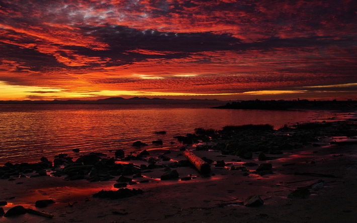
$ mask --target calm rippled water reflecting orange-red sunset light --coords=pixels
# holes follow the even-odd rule
[[[0,164],[37,162],[42,156],[133,151],[140,140],[147,144],[194,133],[197,127],[221,129],[227,125],[272,124],[280,128],[316,119],[315,111],[228,110],[167,105],[0,105]],[[166,131],[156,135],[155,131]]]

